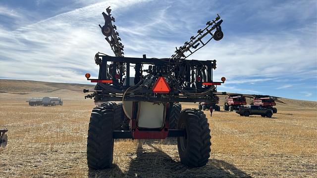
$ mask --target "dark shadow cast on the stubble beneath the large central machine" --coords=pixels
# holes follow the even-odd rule
[[[155,152],[147,152],[139,144],[137,156],[130,162],[127,172],[113,165],[112,169],[89,170],[89,178],[251,178],[234,165],[216,159],[210,159],[201,168],[188,168],[153,146],[151,141],[143,144],[151,146]]]

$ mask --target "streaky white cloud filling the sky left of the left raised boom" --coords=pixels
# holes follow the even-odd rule
[[[110,0],[14,31],[0,29],[0,77],[83,83],[85,72],[97,76],[94,54],[112,54],[98,27],[103,23],[101,12],[109,4],[120,12],[138,2]]]

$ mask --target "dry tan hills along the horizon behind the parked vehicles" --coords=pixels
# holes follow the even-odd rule
[[[27,80],[0,79],[0,96],[4,98],[27,99],[28,97],[58,96],[64,99],[83,99],[83,89],[94,89],[94,85],[67,84],[53,82],[38,82]],[[219,96],[219,105],[224,103],[225,96]],[[317,109],[316,101],[303,101],[288,98],[278,98],[277,108]],[[250,99],[247,98],[247,103]]]

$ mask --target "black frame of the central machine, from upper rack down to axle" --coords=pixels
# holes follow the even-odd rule
[[[84,92],[91,92],[85,98],[93,98],[95,103],[107,101],[134,101],[132,118],[130,119],[129,131],[113,131],[113,138],[133,138],[133,139],[161,139],[166,137],[186,136],[186,131],[169,129],[168,111],[174,102],[208,102],[217,103],[218,96],[215,95],[216,86],[223,82],[213,82],[212,70],[216,68],[216,60],[187,60],[170,58],[143,58],[135,57],[113,57],[108,55],[95,56],[96,64],[99,65],[98,79],[87,80],[97,83],[94,90],[84,89]],[[143,69],[143,65],[149,65],[148,69]],[[147,79],[147,76],[174,76],[173,80],[168,80],[170,87],[168,93],[155,93],[152,90],[152,81],[149,86],[139,87],[136,92],[126,94],[126,91],[133,87],[130,84],[130,67],[134,66],[134,84],[140,80]],[[150,67],[152,66],[152,67]],[[177,70],[177,71],[175,71]],[[148,75],[143,75],[148,73]],[[125,78],[123,78],[125,74]],[[116,77],[113,77],[116,76]],[[143,81],[143,83],[146,83]],[[181,85],[178,85],[181,83]],[[182,90],[192,93],[191,95],[182,93]],[[208,92],[206,92],[208,91]],[[202,93],[198,94],[196,93]],[[194,93],[194,94],[193,94]],[[139,129],[137,127],[138,101],[162,102],[166,104],[165,124],[161,129]]]

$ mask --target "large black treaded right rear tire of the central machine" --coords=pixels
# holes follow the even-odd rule
[[[184,109],[177,129],[186,130],[186,136],[177,137],[180,161],[189,167],[206,165],[211,152],[211,135],[206,115],[196,109]]]

